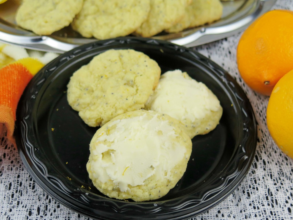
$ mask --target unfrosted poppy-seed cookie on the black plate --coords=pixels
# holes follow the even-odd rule
[[[108,50],[74,72],[67,85],[69,105],[89,126],[144,108],[159,82],[156,61],[135,50]]]

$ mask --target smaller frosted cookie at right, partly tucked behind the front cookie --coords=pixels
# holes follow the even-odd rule
[[[190,138],[213,130],[222,117],[220,101],[202,82],[181,70],[161,76],[145,109],[154,110],[181,121]]]

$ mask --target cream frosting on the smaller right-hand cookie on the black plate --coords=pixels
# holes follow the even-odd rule
[[[205,84],[181,70],[168,71],[161,76],[146,106],[180,121],[203,119],[207,111],[221,108],[219,100]]]

